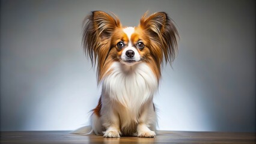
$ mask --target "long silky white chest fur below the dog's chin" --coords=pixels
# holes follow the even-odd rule
[[[132,66],[114,62],[109,71],[102,83],[103,94],[132,112],[138,111],[157,90],[156,76],[143,62]]]

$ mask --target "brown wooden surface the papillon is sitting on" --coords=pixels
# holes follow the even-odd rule
[[[1,132],[1,143],[256,143],[255,133],[159,131],[155,138],[81,136],[69,131]]]

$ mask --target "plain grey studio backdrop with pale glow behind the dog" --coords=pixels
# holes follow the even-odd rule
[[[163,68],[159,130],[255,132],[255,1],[1,1],[1,131],[74,130],[97,105],[82,49],[90,11],[137,26],[165,11],[180,41]]]

